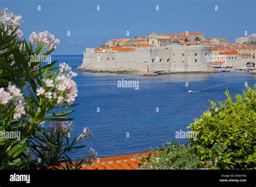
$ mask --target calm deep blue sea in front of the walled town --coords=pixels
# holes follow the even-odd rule
[[[71,135],[79,135],[85,126],[93,132],[93,138],[84,141],[87,147],[73,157],[85,155],[90,147],[96,149],[99,157],[106,157],[142,153],[168,141],[186,142],[176,139],[175,132],[187,131],[193,119],[210,107],[208,99],[225,100],[226,89],[234,98],[245,89],[245,82],[251,86],[255,82],[254,76],[246,72],[156,77],[83,73],[76,70],[83,56],[52,56],[52,60],[69,63],[78,73],[74,79],[80,105],[73,107],[75,112],[70,115],[75,119]],[[118,88],[117,81],[122,79],[139,80],[139,89]],[[187,93],[189,88],[196,92]]]

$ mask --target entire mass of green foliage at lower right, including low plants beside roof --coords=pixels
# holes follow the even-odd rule
[[[194,119],[197,138],[189,146],[172,142],[155,149],[140,169],[256,169],[256,93],[247,87],[232,102],[225,92],[224,103],[210,100],[211,107]],[[176,149],[175,149],[176,148]]]

